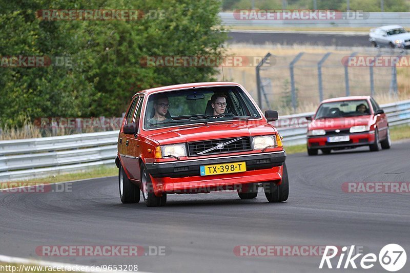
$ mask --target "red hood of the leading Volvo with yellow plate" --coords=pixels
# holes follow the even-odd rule
[[[161,145],[191,141],[202,141],[219,138],[246,137],[257,135],[275,134],[276,131],[270,124],[246,124],[244,122],[210,123],[188,128],[172,129],[151,134],[147,138]]]

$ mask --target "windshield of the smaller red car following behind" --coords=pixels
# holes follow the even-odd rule
[[[322,103],[315,119],[370,115],[367,100],[346,100]]]

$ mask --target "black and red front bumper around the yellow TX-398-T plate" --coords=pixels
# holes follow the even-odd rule
[[[152,177],[154,192],[199,193],[227,190],[227,186],[265,181],[280,184],[286,153],[267,152],[223,158],[193,159],[163,163],[146,163]],[[218,163],[245,161],[247,171],[243,173],[201,176],[199,166]]]

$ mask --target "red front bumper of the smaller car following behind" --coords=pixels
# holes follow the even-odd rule
[[[329,136],[308,136],[308,148],[322,149],[322,148],[352,148],[357,146],[371,145],[375,142],[375,131],[367,131],[363,133],[340,134],[338,136],[349,136],[349,141],[343,142],[328,142]],[[335,136],[335,135],[332,135]]]

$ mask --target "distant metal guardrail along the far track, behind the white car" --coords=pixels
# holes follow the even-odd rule
[[[341,18],[335,20],[240,20],[235,18],[233,12],[220,12],[219,16],[224,26],[264,26],[264,27],[309,27],[309,28],[334,28],[334,27],[368,27],[375,28],[385,25],[402,25],[410,27],[410,12],[360,12],[358,15],[342,12]]]

